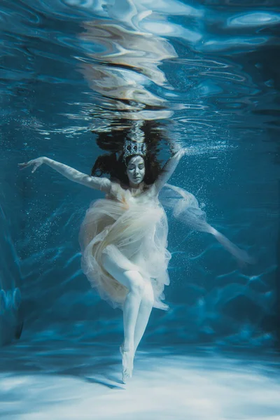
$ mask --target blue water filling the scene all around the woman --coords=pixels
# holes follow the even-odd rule
[[[280,419],[279,2],[15,0],[2,1],[0,22],[0,414],[109,418],[102,398],[116,397],[99,386],[120,386],[122,314],[90,289],[78,246],[85,211],[100,195],[49,167],[30,174],[17,165],[44,155],[90,173],[99,146],[142,120],[159,133],[163,161],[172,145],[188,148],[172,183],[195,194],[209,222],[256,262],[240,268],[213,238],[170,221],[171,309],[153,310],[130,388],[151,405],[142,412],[140,398],[114,416]],[[232,385],[218,367],[212,382],[200,382],[212,358]],[[239,363],[246,368],[235,370]],[[147,372],[157,393],[145,385]],[[86,395],[87,386],[96,393],[95,414],[82,391],[76,411],[55,402],[55,393],[72,398],[80,381]],[[168,383],[189,395],[184,405],[173,386],[181,401],[173,414],[155,398]]]

